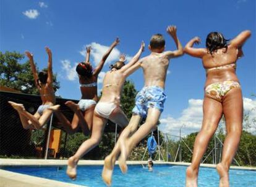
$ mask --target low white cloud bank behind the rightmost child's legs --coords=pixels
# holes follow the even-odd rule
[[[202,126],[203,119],[203,100],[189,100],[189,106],[182,111],[181,117],[174,118],[168,116],[160,119],[160,130],[164,133],[171,135],[179,135],[179,129],[182,124],[186,127],[182,127],[181,135],[188,135],[192,132],[198,132]],[[256,119],[256,100],[250,98],[244,98],[244,113],[249,113],[249,123],[255,123]],[[244,123],[245,124],[245,123]],[[247,129],[250,132],[255,132],[255,125],[251,129]]]

